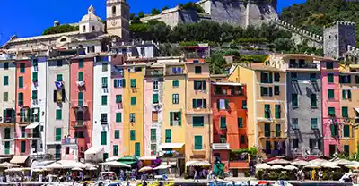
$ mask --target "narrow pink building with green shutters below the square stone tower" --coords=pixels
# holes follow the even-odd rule
[[[320,62],[322,85],[323,112],[323,152],[324,156],[332,156],[342,151],[340,143],[340,93],[339,66],[337,61],[324,60]]]

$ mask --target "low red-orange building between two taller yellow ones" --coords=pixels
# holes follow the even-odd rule
[[[247,140],[246,88],[241,83],[212,82],[213,156],[233,176],[249,168],[248,158],[231,153],[231,149],[249,148]]]

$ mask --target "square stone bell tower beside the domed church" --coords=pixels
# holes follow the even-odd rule
[[[129,5],[126,0],[107,0],[107,33],[129,39]]]

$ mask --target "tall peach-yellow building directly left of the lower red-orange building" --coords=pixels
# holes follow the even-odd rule
[[[186,160],[211,161],[210,74],[206,63],[186,63]]]

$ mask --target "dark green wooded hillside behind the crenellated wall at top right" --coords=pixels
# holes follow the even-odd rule
[[[280,19],[293,25],[322,35],[323,26],[334,21],[353,21],[356,43],[359,42],[359,1],[307,0],[283,9]]]

